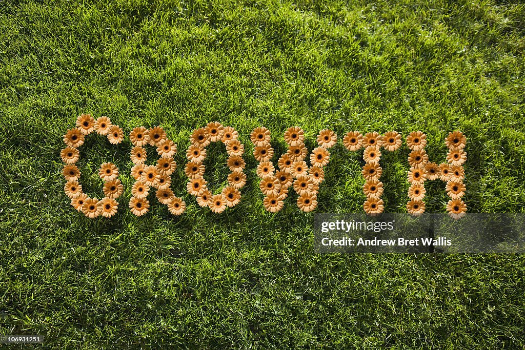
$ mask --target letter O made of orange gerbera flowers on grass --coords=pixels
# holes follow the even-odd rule
[[[184,169],[190,179],[186,185],[187,192],[197,197],[197,204],[209,207],[213,213],[222,213],[226,207],[235,207],[240,202],[240,188],[246,184],[243,159],[244,145],[238,140],[239,133],[232,126],[224,127],[218,122],[211,122],[206,128],[195,129],[190,136],[191,145],[188,147],[186,157],[188,163]],[[211,142],[222,141],[228,153],[227,165],[230,169],[228,185],[219,195],[214,195],[207,188],[204,179],[206,146]]]

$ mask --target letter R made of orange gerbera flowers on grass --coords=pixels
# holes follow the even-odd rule
[[[171,175],[177,168],[173,156],[177,153],[177,145],[167,138],[161,126],[146,129],[144,126],[134,128],[130,133],[131,149],[131,175],[135,183],[131,188],[129,208],[131,213],[142,216],[150,210],[148,195],[150,188],[156,189],[155,196],[160,203],[167,206],[173,215],[181,215],[186,210],[186,203],[182,198],[176,197],[171,189]],[[146,165],[148,153],[146,145],[155,147],[160,158],[155,165]]]

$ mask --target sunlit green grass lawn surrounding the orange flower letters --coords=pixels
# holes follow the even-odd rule
[[[489,349],[525,347],[525,258],[512,255],[319,255],[313,216],[291,194],[262,206],[249,132],[301,126],[468,138],[472,213],[523,213],[525,5],[493,1],[0,2],[0,334],[45,335],[46,347]],[[81,183],[120,167],[111,220],[64,195],[61,135],[80,113],[126,134],[162,125],[178,144],[172,188],[187,210],[127,208],[130,143],[95,135]],[[220,215],[185,193],[184,151],[209,121],[247,147],[243,199]],[[224,146],[206,178],[226,180]],[[318,213],[360,213],[361,154],[341,143]],[[385,211],[406,212],[408,149],[382,158]],[[277,157],[274,158],[277,160]],[[427,186],[445,213],[443,183]]]

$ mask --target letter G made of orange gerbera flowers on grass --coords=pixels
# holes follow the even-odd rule
[[[76,163],[80,159],[78,147],[84,143],[85,136],[93,131],[108,137],[112,144],[121,143],[124,133],[118,125],[113,125],[106,116],[101,116],[97,120],[91,114],[81,114],[77,118],[77,128],[69,129],[64,137],[67,145],[60,152],[62,161],[66,163],[62,168],[62,175],[67,183],[64,192],[71,198],[71,205],[81,211],[88,218],[94,219],[99,216],[110,218],[117,214],[119,203],[117,198],[123,192],[123,186],[119,177],[119,169],[112,163],[104,163],[100,166],[99,176],[104,181],[103,192],[105,197],[102,199],[90,198],[82,192],[80,185],[80,170]]]

